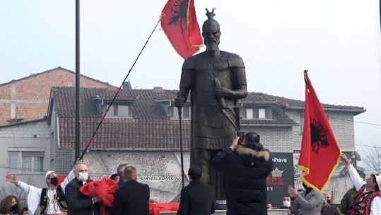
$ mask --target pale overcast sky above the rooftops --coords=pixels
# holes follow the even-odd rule
[[[0,0],[0,83],[58,66],[75,70],[74,3]],[[81,73],[119,87],[165,3],[81,1]],[[356,144],[381,147],[378,0],[194,4],[200,26],[205,8],[216,8],[220,47],[242,56],[250,92],[304,100],[307,69],[320,102],[367,109],[355,117]],[[157,29],[129,80],[137,89],[176,90],[182,62]]]

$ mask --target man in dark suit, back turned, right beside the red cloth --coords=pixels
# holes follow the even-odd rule
[[[124,168],[126,183],[115,192],[113,215],[149,215],[148,185],[136,180],[136,168]]]

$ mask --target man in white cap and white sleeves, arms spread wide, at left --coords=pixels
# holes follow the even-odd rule
[[[77,161],[77,164],[78,163],[81,162]],[[37,207],[40,207],[41,215],[65,215],[67,214],[67,203],[64,194],[65,187],[74,177],[74,171],[72,170],[61,185],[58,185],[59,181],[57,173],[54,171],[47,171],[45,173],[47,188],[36,188],[33,185],[28,185],[25,182],[17,180],[15,175],[6,175],[6,180],[14,183],[27,194],[27,203],[30,214],[35,214]]]

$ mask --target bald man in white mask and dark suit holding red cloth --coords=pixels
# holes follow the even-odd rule
[[[68,214],[100,215],[100,206],[96,204],[100,201],[100,198],[91,198],[79,191],[79,188],[91,182],[91,180],[88,180],[87,166],[85,164],[77,164],[76,168],[74,168],[74,175],[76,178],[71,180],[65,188]]]

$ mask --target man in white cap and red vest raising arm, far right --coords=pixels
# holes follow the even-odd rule
[[[351,209],[351,215],[380,215],[381,214],[381,176],[372,174],[365,181],[358,175],[356,168],[352,166],[346,155],[341,154],[341,160],[348,168],[353,185],[357,190],[355,202]]]

